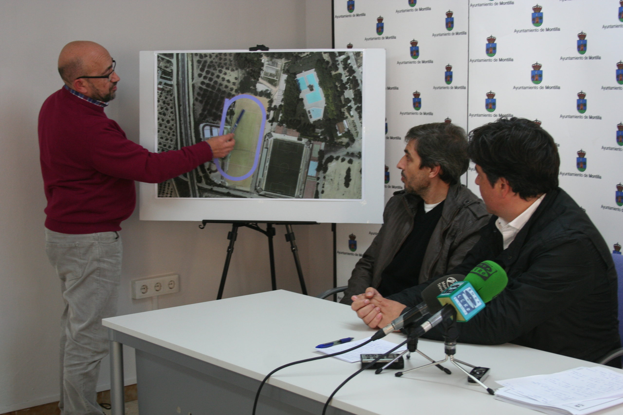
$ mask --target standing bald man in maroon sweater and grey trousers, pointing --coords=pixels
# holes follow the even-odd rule
[[[65,85],[39,113],[45,250],[65,302],[59,408],[62,415],[101,415],[95,386],[108,353],[101,320],[117,312],[118,231],[135,208],[134,181],[163,182],[224,157],[234,147],[234,134],[178,151],[149,152],[104,113],[120,80],[106,49],[70,42],[60,52],[59,73]]]

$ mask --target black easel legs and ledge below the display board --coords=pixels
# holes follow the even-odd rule
[[[269,261],[270,261],[270,282],[272,284],[273,291],[277,289],[277,279],[275,278],[275,252],[273,250],[272,238],[275,236],[275,228],[273,225],[285,225],[285,240],[290,242],[290,249],[292,249],[292,255],[294,257],[294,263],[297,266],[298,281],[301,284],[301,291],[303,295],[307,296],[307,287],[305,287],[305,279],[303,279],[303,269],[301,268],[301,261],[298,258],[298,247],[295,242],[294,231],[292,225],[318,225],[318,222],[287,222],[287,221],[244,221],[244,220],[202,220],[199,229],[204,229],[207,223],[231,223],[232,230],[227,233],[227,239],[229,240],[229,246],[227,246],[227,256],[225,258],[225,265],[223,266],[223,274],[221,276],[221,284],[219,285],[219,293],[216,296],[217,300],[223,297],[223,290],[225,289],[225,281],[227,279],[227,271],[229,271],[229,263],[234,253],[234,243],[238,237],[238,228],[242,226],[258,231],[266,235],[269,240]],[[265,223],[266,229],[260,228],[259,223]]]

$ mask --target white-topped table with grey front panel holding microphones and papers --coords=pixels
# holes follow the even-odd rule
[[[104,319],[110,329],[113,415],[123,414],[121,343],[136,348],[139,411],[143,414],[250,414],[261,381],[274,368],[318,355],[315,346],[336,338],[373,334],[350,307],[288,291],[183,305]],[[400,333],[385,338],[399,343]],[[420,340],[419,349],[434,359],[443,343]],[[531,348],[457,346],[459,360],[492,368],[485,383],[597,366]],[[405,370],[427,363],[417,353]],[[328,414],[536,414],[497,401],[452,365],[446,375],[435,367],[375,375],[364,371],[346,384]],[[262,390],[258,415],[320,414],[323,404],[359,363],[336,358],[301,363],[278,371]],[[622,371],[623,373],[623,371]],[[602,414],[621,414],[616,406]]]

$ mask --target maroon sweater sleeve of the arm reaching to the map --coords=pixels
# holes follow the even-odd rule
[[[181,150],[155,153],[127,139],[112,119],[103,119],[102,123],[93,128],[90,136],[90,157],[93,167],[103,174],[161,183],[212,160],[212,149],[206,141]]]

